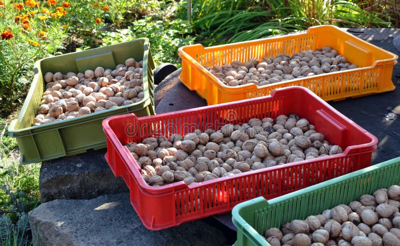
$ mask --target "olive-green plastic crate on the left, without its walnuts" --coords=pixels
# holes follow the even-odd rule
[[[144,98],[130,105],[83,115],[74,119],[32,126],[41,96],[45,90],[46,72],[84,72],[98,66],[115,68],[127,58],[143,60]],[[55,159],[83,153],[88,149],[106,147],[101,122],[104,118],[134,112],[137,116],[154,114],[153,78],[155,65],[151,57],[148,38],[43,58],[34,64],[34,77],[25,102],[16,120],[8,128],[21,152],[22,164]]]

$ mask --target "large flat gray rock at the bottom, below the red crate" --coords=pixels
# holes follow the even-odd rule
[[[226,242],[222,231],[202,220],[147,230],[130,205],[128,193],[43,203],[31,212],[29,224],[33,244],[40,246],[218,246]]]

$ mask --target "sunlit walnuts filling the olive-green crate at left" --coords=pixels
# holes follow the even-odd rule
[[[114,70],[97,67],[75,74],[44,74],[46,90],[33,125],[129,105],[144,98],[143,61],[126,59]]]

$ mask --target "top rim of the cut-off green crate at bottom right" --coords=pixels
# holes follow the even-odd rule
[[[253,239],[255,239],[257,241],[257,243],[259,243],[261,245],[265,244],[265,240],[263,238],[261,238],[261,236],[254,230],[254,228],[252,226],[250,226],[240,216],[239,213],[240,213],[241,210],[246,209],[246,207],[248,207],[248,206],[255,205],[255,204],[260,204],[260,203],[265,204],[268,207],[269,206],[274,206],[274,205],[276,205],[278,203],[281,203],[281,202],[284,202],[284,201],[287,201],[287,200],[290,200],[290,199],[294,199],[294,198],[297,198],[297,197],[301,197],[301,196],[303,196],[305,194],[308,194],[310,192],[314,192],[314,191],[317,191],[317,190],[322,190],[322,189],[325,189],[326,187],[329,187],[331,185],[334,185],[334,184],[349,180],[351,178],[355,178],[355,177],[361,176],[364,173],[370,173],[370,172],[376,171],[378,169],[382,169],[382,168],[385,168],[387,166],[391,166],[391,165],[393,165],[393,162],[400,162],[400,157],[396,157],[394,159],[387,160],[387,161],[384,161],[382,163],[378,163],[378,164],[372,165],[370,167],[366,167],[366,168],[363,168],[363,169],[360,169],[360,170],[357,170],[357,171],[342,175],[340,177],[336,177],[336,178],[324,181],[322,183],[315,184],[315,185],[303,188],[301,190],[294,191],[292,193],[288,193],[286,195],[283,195],[283,196],[280,196],[280,197],[277,197],[277,198],[273,198],[271,200],[266,200],[263,197],[257,197],[257,198],[253,198],[253,199],[248,200],[248,201],[244,201],[244,202],[239,203],[239,204],[237,204],[237,205],[235,205],[233,207],[232,212],[231,212],[232,213],[232,223],[236,228],[240,228],[240,230],[242,231],[242,233],[244,235],[250,236],[250,237],[247,237],[249,240],[252,241]],[[246,230],[242,230],[242,228],[245,228]]]

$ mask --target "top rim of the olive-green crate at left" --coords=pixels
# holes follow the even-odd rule
[[[110,45],[107,45],[107,47],[113,47],[113,46],[120,45],[121,43],[127,43],[127,42],[130,42],[130,41],[136,41],[136,40],[138,40],[138,41],[143,40],[143,47],[144,47],[143,64],[145,63],[146,66],[147,66],[147,60],[148,60],[148,55],[150,53],[149,52],[150,47],[149,47],[149,39],[146,38],[146,37],[135,38],[135,39],[132,39],[132,40],[129,40],[129,41],[125,41],[125,42],[110,44]],[[101,49],[103,47],[105,47],[105,46],[92,48],[90,50],[99,50],[99,49]],[[82,50],[82,51],[84,51],[84,50]],[[67,55],[71,55],[71,54],[76,54],[76,53],[79,53],[79,52],[82,52],[82,51],[75,51],[75,52],[70,52],[70,53],[60,54],[60,55],[55,55],[55,56],[48,56],[48,57],[44,57],[44,58],[41,58],[41,59],[37,60],[33,65],[33,70],[35,71],[35,74],[34,74],[34,76],[32,78],[32,82],[30,83],[30,85],[32,85],[33,81],[37,81],[37,80],[35,80],[35,77],[39,76],[39,72],[38,71],[40,70],[39,68],[40,68],[41,61],[43,61],[45,59],[48,59],[48,58],[62,57],[62,56],[67,56]],[[147,53],[147,56],[146,56],[146,53]],[[145,57],[147,57],[145,59],[146,61],[144,61]],[[147,73],[147,71],[146,71],[146,73]],[[147,76],[148,76],[148,74],[147,74]],[[150,81],[148,81],[148,79],[147,79],[147,83],[150,83]],[[30,135],[31,133],[40,133],[40,132],[46,132],[48,130],[53,130],[53,129],[57,129],[57,128],[64,128],[64,127],[67,127],[66,126],[67,124],[69,126],[70,125],[81,124],[82,122],[77,122],[77,121],[80,121],[81,119],[90,122],[90,121],[98,120],[98,119],[101,119],[101,118],[109,117],[108,115],[109,114],[113,114],[115,111],[124,110],[125,108],[129,108],[129,107],[133,107],[133,106],[137,106],[137,109],[140,109],[140,108],[146,107],[149,104],[151,104],[151,101],[149,100],[149,99],[151,99],[150,98],[150,93],[148,92],[148,90],[149,89],[148,89],[148,85],[147,85],[147,89],[146,89],[147,93],[144,93],[144,97],[140,101],[134,102],[134,103],[129,104],[129,105],[121,105],[121,106],[118,106],[117,108],[113,108],[113,109],[107,109],[106,114],[105,114],[105,112],[104,112],[105,110],[104,110],[104,111],[100,111],[100,112],[93,112],[93,113],[90,113],[90,114],[87,114],[87,115],[81,115],[79,117],[75,117],[75,118],[72,118],[72,119],[65,119],[65,120],[62,120],[62,121],[49,122],[49,123],[42,124],[42,125],[30,126],[30,127],[26,127],[26,128],[22,128],[22,129],[17,129],[18,125],[21,122],[22,116],[23,116],[23,114],[21,114],[21,112],[24,112],[26,110],[26,108],[28,107],[28,104],[29,104],[29,101],[27,101],[26,98],[30,98],[29,97],[30,94],[33,93],[33,90],[32,90],[32,92],[30,92],[31,90],[29,88],[28,94],[26,95],[26,98],[24,100],[22,108],[19,111],[18,117],[11,121],[11,123],[9,124],[7,130],[9,131],[9,134],[10,134],[11,137],[27,136],[27,135]],[[18,135],[18,133],[21,133],[21,132],[27,132],[27,133],[25,133],[25,134],[22,133],[21,135]]]

